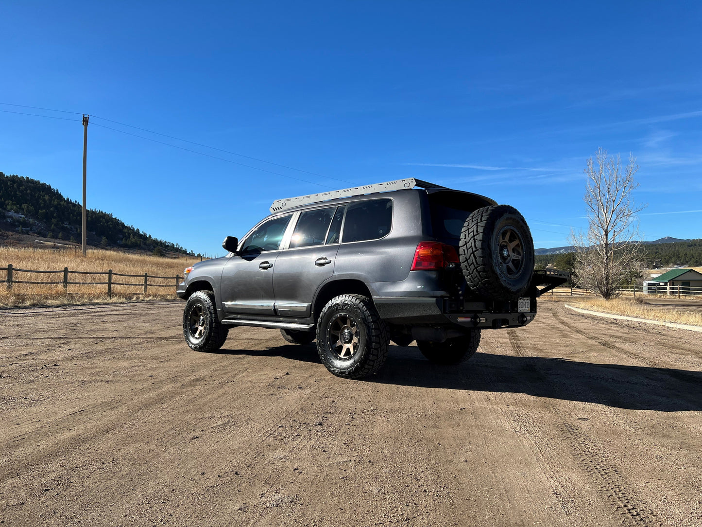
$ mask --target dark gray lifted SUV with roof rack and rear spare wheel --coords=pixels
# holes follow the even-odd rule
[[[517,209],[413,178],[277,200],[271,212],[241,242],[227,237],[227,256],[185,269],[190,348],[216,351],[230,327],[258,326],[316,339],[339,377],[377,372],[391,340],[456,364],[481,330],[534,320],[536,297],[565,281],[534,272]]]

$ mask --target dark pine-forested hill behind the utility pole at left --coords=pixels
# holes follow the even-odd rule
[[[36,179],[0,172],[0,229],[61,240],[80,240],[82,207]],[[88,244],[181,252],[177,243],[152,238],[112,214],[88,209]],[[192,254],[192,252],[191,252]]]

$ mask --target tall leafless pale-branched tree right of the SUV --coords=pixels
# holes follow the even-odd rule
[[[604,299],[618,296],[618,285],[637,269],[640,242],[636,215],[646,205],[637,206],[633,190],[639,186],[634,175],[639,169],[629,155],[629,164],[622,169],[619,155],[609,156],[597,150],[595,159],[588,159],[585,175],[585,209],[588,232],[571,233],[576,249],[575,273],[578,285],[592,289]]]

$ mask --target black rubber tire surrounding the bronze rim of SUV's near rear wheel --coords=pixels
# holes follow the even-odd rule
[[[329,361],[324,351],[324,333],[326,332],[326,328],[324,327],[323,320],[326,314],[331,309],[338,306],[338,304],[347,304],[355,307],[359,311],[362,320],[358,322],[365,325],[367,336],[364,356],[354,367],[346,370],[335,367]],[[380,315],[378,315],[373,301],[368,297],[364,297],[362,294],[341,294],[338,297],[334,297],[327,302],[326,306],[322,309],[322,313],[319,313],[319,320],[317,323],[317,353],[319,353],[319,358],[322,360],[322,364],[324,364],[326,369],[337,377],[362,379],[363,377],[378,372],[388,358],[389,345],[390,332],[388,330],[388,325],[380,318]]]

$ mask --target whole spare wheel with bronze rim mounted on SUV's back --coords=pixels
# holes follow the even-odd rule
[[[472,212],[461,230],[461,269],[468,287],[484,297],[515,300],[534,273],[534,240],[524,216],[509,205]]]

